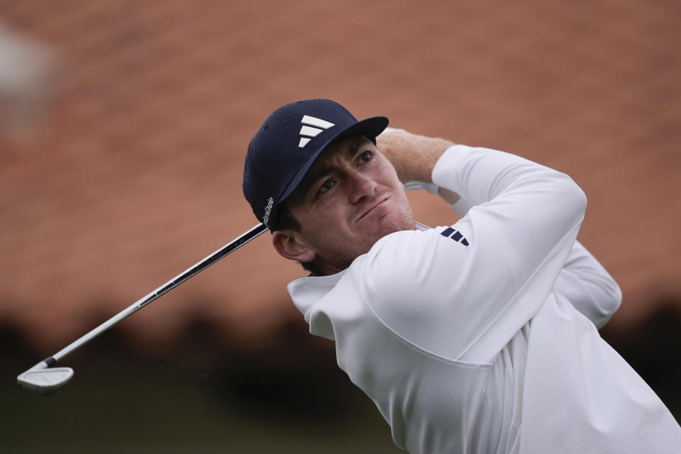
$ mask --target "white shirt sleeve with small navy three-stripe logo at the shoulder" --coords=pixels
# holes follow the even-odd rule
[[[433,182],[472,208],[453,226],[382,238],[362,262],[366,304],[419,348],[491,362],[553,290],[586,197],[563,173],[464,145],[443,154]]]

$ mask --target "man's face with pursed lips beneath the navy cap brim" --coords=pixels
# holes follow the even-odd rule
[[[414,229],[394,168],[361,135],[324,150],[287,205],[302,226],[296,239],[325,274],[344,270],[389,233]]]

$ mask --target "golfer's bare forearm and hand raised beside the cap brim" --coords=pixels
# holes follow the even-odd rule
[[[436,162],[454,144],[449,140],[408,133],[404,129],[387,128],[376,138],[376,145],[395,167],[399,181],[430,183]]]

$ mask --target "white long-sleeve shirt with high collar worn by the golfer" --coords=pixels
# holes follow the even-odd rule
[[[289,284],[395,443],[411,453],[678,452],[681,428],[597,332],[619,287],[575,241],[586,199],[572,179],[455,145],[433,182],[472,205],[453,226],[393,233],[343,272]]]

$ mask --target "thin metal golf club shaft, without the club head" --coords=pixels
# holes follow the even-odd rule
[[[125,319],[128,316],[131,316],[136,311],[139,311],[144,306],[149,304],[151,301],[154,301],[158,297],[161,297],[162,295],[166,294],[167,292],[170,292],[170,290],[174,289],[179,284],[182,284],[182,282],[186,281],[190,277],[196,275],[197,273],[201,272],[202,270],[205,270],[207,267],[213,265],[215,262],[217,262],[221,258],[225,257],[229,253],[232,253],[233,251],[237,250],[241,246],[245,245],[250,240],[257,238],[262,233],[265,233],[266,230],[267,230],[267,227],[262,223],[251,228],[249,231],[245,232],[242,236],[236,238],[231,243],[228,243],[228,244],[224,245],[222,248],[216,250],[214,253],[212,253],[208,257],[204,258],[204,260],[201,260],[200,262],[196,263],[196,265],[194,265],[193,267],[190,267],[187,270],[180,273],[179,275],[173,277],[172,279],[170,279],[170,281],[168,281],[165,284],[163,284],[162,286],[158,287],[157,289],[155,289],[153,292],[151,292],[147,296],[139,299],[138,301],[135,301],[134,304],[132,304],[131,306],[128,306],[128,308],[126,308],[126,309],[123,309],[123,311],[116,314],[116,316],[113,316],[113,317],[111,317],[111,319],[105,321],[104,323],[101,323],[101,325],[97,326],[96,328],[94,328],[89,333],[85,334],[84,336],[77,339],[76,341],[73,341],[72,343],[67,345],[65,348],[62,348],[62,350],[58,351],[57,353],[52,355],[50,358],[47,358],[47,359],[43,360],[42,362],[45,362],[46,365],[51,366],[52,364],[54,364],[55,362],[57,362],[61,358],[64,358],[66,355],[71,353],[73,350],[76,350],[77,348],[79,348],[81,345],[84,345],[85,343],[91,341],[96,336],[99,336],[101,333],[104,333],[104,331],[111,328],[111,326],[114,326],[119,321]],[[40,363],[38,363],[38,365],[40,365]],[[36,365],[36,366],[38,366],[38,365]]]

